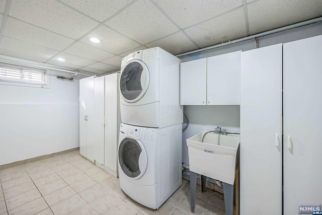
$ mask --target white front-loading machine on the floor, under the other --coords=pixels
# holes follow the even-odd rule
[[[121,189],[133,200],[159,208],[182,184],[182,124],[164,128],[120,126]]]

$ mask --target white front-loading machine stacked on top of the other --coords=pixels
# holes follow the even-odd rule
[[[119,86],[123,123],[162,128],[183,122],[180,63],[181,59],[159,47],[122,59]]]

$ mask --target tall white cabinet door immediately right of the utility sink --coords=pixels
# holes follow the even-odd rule
[[[282,214],[282,44],[241,53],[240,214]]]

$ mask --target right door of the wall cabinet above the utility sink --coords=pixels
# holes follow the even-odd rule
[[[207,105],[240,104],[240,53],[207,58]]]

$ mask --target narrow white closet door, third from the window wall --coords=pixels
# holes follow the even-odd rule
[[[94,79],[94,144],[95,161],[104,164],[104,127],[105,127],[105,77]]]

